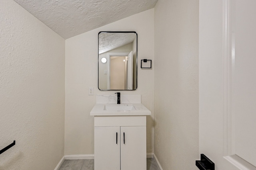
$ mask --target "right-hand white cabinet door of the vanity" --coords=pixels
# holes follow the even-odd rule
[[[146,170],[146,126],[120,129],[121,170]]]

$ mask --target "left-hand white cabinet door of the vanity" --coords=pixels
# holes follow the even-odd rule
[[[120,127],[94,127],[94,170],[120,170]]]

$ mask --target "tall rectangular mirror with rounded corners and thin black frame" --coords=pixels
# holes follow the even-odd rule
[[[134,31],[98,33],[99,90],[137,89],[137,39]]]

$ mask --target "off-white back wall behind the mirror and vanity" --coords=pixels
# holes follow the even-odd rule
[[[147,117],[147,152],[153,152],[154,67],[140,69],[141,59],[154,59],[154,9],[151,9],[66,39],[65,155],[94,154],[94,117],[90,111],[96,103],[96,94],[116,92],[98,90],[99,31],[138,33],[138,89],[121,94],[141,94],[142,104],[152,111]],[[94,87],[94,96],[88,96],[89,87]]]

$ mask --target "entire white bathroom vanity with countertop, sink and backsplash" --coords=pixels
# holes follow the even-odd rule
[[[94,116],[94,170],[146,170],[146,115],[140,95],[97,96]],[[134,100],[132,100],[134,99]]]

